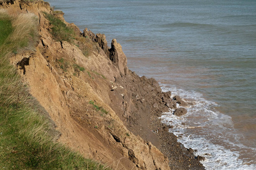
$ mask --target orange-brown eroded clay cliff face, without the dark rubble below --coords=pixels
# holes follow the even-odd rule
[[[32,12],[39,18],[36,51],[15,54],[11,63],[57,125],[60,142],[113,169],[169,169],[167,157],[151,142],[127,130],[118,117],[130,114],[132,99],[117,79],[134,76],[127,69],[121,45],[113,40],[112,49],[106,50],[100,46],[103,41],[97,43],[82,36],[75,25],[68,23],[76,28],[81,41],[53,40],[43,14],[52,13],[47,2],[11,1],[3,3],[2,8],[9,14]],[[86,43],[92,46],[88,56],[79,48]],[[127,98],[127,103],[121,98]],[[123,111],[117,114],[119,110],[113,108],[120,105]]]

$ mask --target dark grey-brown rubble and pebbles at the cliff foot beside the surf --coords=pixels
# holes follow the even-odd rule
[[[204,158],[195,156],[191,148],[185,148],[177,142],[176,135],[168,131],[171,126],[164,125],[160,120],[162,113],[168,112],[170,108],[176,108],[177,101],[171,99],[171,92],[163,92],[154,78],[147,79],[146,76],[140,77],[135,73],[133,75],[135,87],[130,87],[129,83],[124,84],[129,80],[123,82],[117,79],[117,83],[122,84],[128,93],[137,94],[133,101],[137,108],[140,108],[139,113],[131,114],[131,118],[123,121],[127,122],[127,129],[155,145],[167,156],[171,169],[205,169],[199,162]],[[118,116],[122,118],[122,115]]]

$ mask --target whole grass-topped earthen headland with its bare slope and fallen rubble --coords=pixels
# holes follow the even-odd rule
[[[109,48],[105,35],[81,32],[47,2],[0,8],[13,14],[0,19],[9,25],[0,41],[1,168],[104,169],[56,139],[113,169],[201,167],[159,120],[176,108],[171,92],[129,70],[117,40]]]

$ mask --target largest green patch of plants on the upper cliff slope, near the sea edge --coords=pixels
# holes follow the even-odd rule
[[[54,15],[46,12],[44,14],[51,24],[51,34],[56,41],[71,42],[75,39],[75,33],[72,28],[67,27],[62,20],[56,18]]]

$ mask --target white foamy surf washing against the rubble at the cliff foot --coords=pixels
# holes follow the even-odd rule
[[[195,91],[184,91],[176,87],[162,87],[162,90],[171,91],[171,97],[179,95],[189,101],[193,100],[194,105],[187,108],[187,114],[178,117],[171,110],[163,113],[160,118],[164,124],[174,126],[170,132],[178,137],[179,142],[197,150],[195,156],[206,158],[201,162],[206,169],[256,169],[255,160],[239,158],[241,151],[256,153],[256,148],[241,144],[243,136],[236,133],[230,116],[214,111],[216,103],[205,100],[202,94]]]

